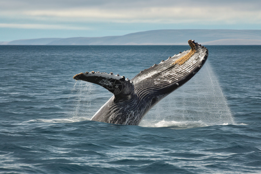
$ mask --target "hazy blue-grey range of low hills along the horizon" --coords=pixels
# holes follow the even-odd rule
[[[187,45],[194,39],[202,45],[261,45],[261,30],[166,29],[123,36],[23,39],[2,45]]]

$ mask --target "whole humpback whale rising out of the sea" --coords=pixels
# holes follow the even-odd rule
[[[161,99],[190,80],[208,58],[208,49],[188,40],[191,49],[179,52],[138,73],[131,80],[114,73],[86,72],[73,79],[98,84],[114,95],[91,120],[119,125],[138,125]]]

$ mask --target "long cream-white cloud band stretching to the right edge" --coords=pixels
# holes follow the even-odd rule
[[[134,9],[65,9],[33,10],[23,12],[31,17],[59,17],[78,21],[110,22],[246,22],[260,23],[261,11],[242,11],[230,7],[187,8],[187,7],[148,7]]]

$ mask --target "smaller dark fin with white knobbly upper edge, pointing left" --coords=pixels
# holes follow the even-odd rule
[[[130,95],[134,91],[132,82],[119,74],[114,75],[113,73],[107,74],[92,71],[90,73],[76,74],[73,78],[75,80],[84,80],[104,87],[114,94],[116,100]]]

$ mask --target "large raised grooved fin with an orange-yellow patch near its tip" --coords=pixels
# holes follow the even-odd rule
[[[190,80],[203,66],[208,49],[188,41],[191,49],[162,60],[138,73],[131,81],[139,98],[155,95],[164,97]]]

